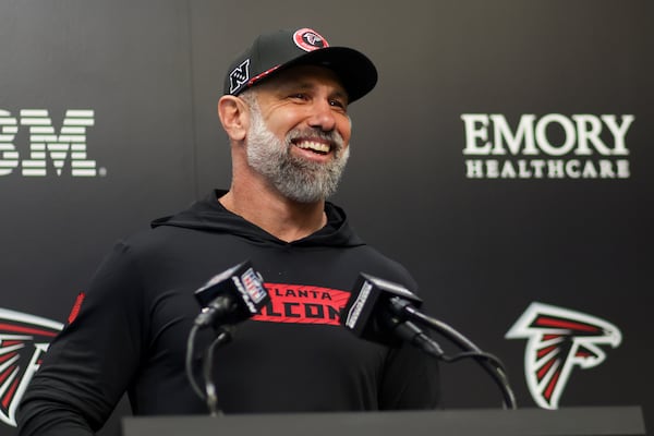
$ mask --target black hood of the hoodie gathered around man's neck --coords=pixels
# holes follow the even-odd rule
[[[155,219],[153,228],[161,226],[229,233],[261,244],[296,246],[359,246],[365,245],[348,223],[346,213],[332,203],[325,203],[327,225],[315,233],[293,242],[284,242],[262,228],[226,209],[218,198],[227,191],[215,190],[179,214]]]

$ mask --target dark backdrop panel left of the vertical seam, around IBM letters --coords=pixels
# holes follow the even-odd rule
[[[0,177],[0,307],[63,323],[119,238],[193,201],[186,8],[178,1],[0,3],[0,109],[16,120],[5,146],[13,144],[21,162]],[[29,109],[48,112],[61,143],[69,110],[93,112],[85,147],[95,177],[72,174],[73,143],[60,159],[61,175],[49,145],[45,159],[32,159],[33,143],[41,141],[24,124],[29,118],[21,114]],[[24,175],[24,160],[46,160],[46,175]],[[0,434],[13,434],[3,412]],[[116,422],[107,433],[118,433]]]

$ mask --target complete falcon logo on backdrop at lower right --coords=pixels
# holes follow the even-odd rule
[[[529,339],[526,384],[544,409],[558,408],[573,366],[588,370],[600,365],[606,359],[600,346],[616,348],[622,341],[620,330],[604,319],[543,303],[532,303],[506,338]]]

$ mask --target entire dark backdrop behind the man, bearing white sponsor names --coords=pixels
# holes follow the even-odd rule
[[[310,26],[380,73],[351,107],[335,197],[361,235],[413,272],[426,312],[505,361],[521,405],[536,405],[528,339],[506,336],[530,304],[615,326],[558,405],[642,404],[652,426],[653,20],[645,0],[2,2],[0,307],[63,323],[117,239],[227,187],[225,69],[259,32]],[[38,148],[48,134],[68,155]],[[473,363],[444,375],[444,407],[499,404]]]

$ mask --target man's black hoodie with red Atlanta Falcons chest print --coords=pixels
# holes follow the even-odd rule
[[[25,392],[21,434],[88,435],[125,391],[137,415],[207,413],[184,371],[199,311],[193,292],[243,261],[262,274],[271,303],[215,354],[223,412],[435,407],[433,360],[361,340],[338,323],[361,271],[415,289],[405,269],[359,239],[330,203],[327,226],[287,243],[225,209],[222,194],[114,246]],[[211,339],[210,331],[196,339],[198,382]]]

